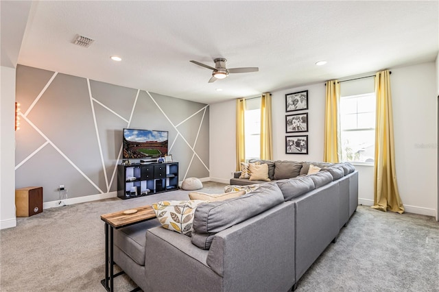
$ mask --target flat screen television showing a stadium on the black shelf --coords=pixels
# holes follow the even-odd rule
[[[167,155],[167,131],[123,129],[123,159],[156,159]]]

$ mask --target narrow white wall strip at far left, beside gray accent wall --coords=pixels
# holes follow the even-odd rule
[[[16,226],[15,217],[15,69],[0,68],[0,229]]]

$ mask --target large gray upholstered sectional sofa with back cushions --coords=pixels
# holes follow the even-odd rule
[[[191,237],[157,220],[115,230],[115,263],[143,291],[294,290],[358,204],[352,165],[307,175],[318,162],[297,163],[294,178],[278,175],[246,195],[198,205]]]

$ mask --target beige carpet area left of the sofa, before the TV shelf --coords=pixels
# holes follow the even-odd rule
[[[222,193],[226,184],[204,182],[204,193]],[[189,199],[170,191],[121,200],[104,199],[44,210],[17,218],[16,228],[0,230],[0,291],[105,291],[104,221],[100,215],[145,206],[163,199]],[[115,278],[116,291],[136,285]]]

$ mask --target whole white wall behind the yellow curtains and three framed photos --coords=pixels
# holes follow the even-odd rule
[[[396,174],[401,199],[407,212],[430,216],[436,215],[438,197],[435,70],[435,63],[429,62],[391,69],[390,77]],[[301,90],[309,90],[309,132],[305,133],[309,135],[309,155],[285,154],[285,94]],[[324,96],[324,83],[272,92],[274,160],[323,159]],[[230,172],[235,169],[234,121],[235,101],[211,105],[210,171],[217,181],[228,182]],[[359,203],[372,205],[373,167],[356,168],[359,171]]]

